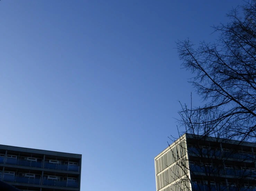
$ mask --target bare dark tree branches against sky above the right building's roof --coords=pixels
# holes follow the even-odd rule
[[[239,11],[241,12],[239,16]],[[230,22],[214,26],[216,43],[177,42],[183,67],[203,99],[202,107],[182,106],[185,132],[240,141],[256,141],[256,0],[227,14]]]

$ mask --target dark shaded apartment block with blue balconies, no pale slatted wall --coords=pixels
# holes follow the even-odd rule
[[[0,145],[0,177],[22,191],[80,191],[81,160],[81,154]]]

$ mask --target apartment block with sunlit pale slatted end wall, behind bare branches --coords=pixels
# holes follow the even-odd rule
[[[256,144],[184,134],[155,157],[157,191],[256,191]]]

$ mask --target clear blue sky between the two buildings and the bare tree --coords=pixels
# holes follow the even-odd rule
[[[175,41],[242,2],[1,0],[0,144],[82,154],[81,191],[155,191],[193,91]]]

